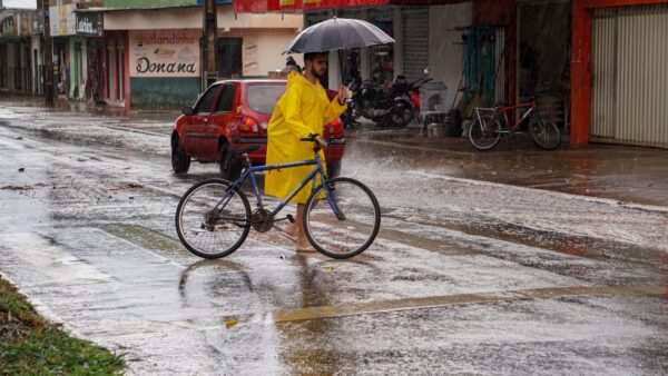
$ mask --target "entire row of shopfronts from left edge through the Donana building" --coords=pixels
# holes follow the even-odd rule
[[[236,14],[232,0],[216,0],[216,67],[206,72],[203,4],[48,1],[56,98],[126,108],[189,105],[207,79],[266,77],[283,68],[283,48],[303,27],[301,14]],[[42,93],[40,14],[0,12],[0,90]]]

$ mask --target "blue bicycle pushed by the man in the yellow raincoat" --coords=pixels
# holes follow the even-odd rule
[[[195,184],[181,197],[176,209],[176,231],[180,241],[193,254],[203,258],[225,257],[238,249],[250,228],[266,232],[279,220],[294,222],[287,215],[276,215],[308,182],[312,194],[304,210],[304,230],[311,245],[332,258],[348,258],[364,251],[374,241],[381,226],[381,208],[374,194],[362,182],[352,178],[330,178],[318,155],[318,135],[310,135],[301,141],[314,144],[314,158],[295,162],[253,166],[248,152],[258,146],[229,149],[230,155],[243,155],[245,167],[238,179],[208,179]],[[268,170],[314,166],[307,177],[274,208],[266,209],[257,186],[255,174]],[[240,189],[250,177],[256,208],[250,212],[246,194]],[[317,185],[320,177],[322,184]]]

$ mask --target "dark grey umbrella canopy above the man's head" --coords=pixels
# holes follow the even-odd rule
[[[306,53],[393,43],[376,26],[350,18],[333,18],[304,29],[283,53]]]

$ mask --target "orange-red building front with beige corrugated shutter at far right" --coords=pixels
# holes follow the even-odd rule
[[[668,148],[668,1],[572,7],[571,145]]]

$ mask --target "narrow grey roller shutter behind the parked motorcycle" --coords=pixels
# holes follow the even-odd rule
[[[424,77],[429,66],[429,8],[404,9],[402,17],[404,75],[414,81]]]

